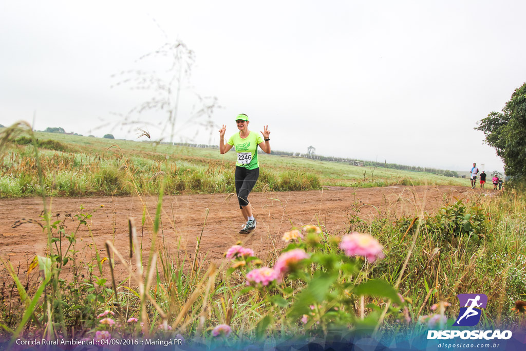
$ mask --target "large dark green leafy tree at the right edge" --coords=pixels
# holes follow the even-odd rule
[[[526,175],[526,83],[515,89],[502,112],[491,112],[475,129],[485,135],[511,177]]]

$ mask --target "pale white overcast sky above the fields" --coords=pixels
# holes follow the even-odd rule
[[[137,59],[180,39],[196,55],[180,122],[196,92],[218,98],[213,119],[227,136],[246,113],[252,131],[269,126],[276,150],[502,171],[473,128],[526,81],[525,13],[523,1],[480,0],[3,1],[0,124],[32,123],[36,111],[39,130],[135,139],[112,113],[151,92],[111,88],[110,76],[163,73],[161,60]],[[145,112],[133,127],[165,118]]]

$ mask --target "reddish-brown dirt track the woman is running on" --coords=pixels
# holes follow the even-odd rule
[[[237,240],[243,240],[244,245],[254,249],[259,257],[266,257],[272,252],[271,240],[275,240],[277,249],[283,246],[280,237],[291,228],[290,222],[295,226],[317,224],[319,218],[319,222],[331,234],[340,234],[347,232],[348,215],[355,213],[357,206],[366,205],[361,207],[359,213],[359,217],[366,220],[378,216],[379,212],[382,216],[412,216],[422,206],[427,212],[434,212],[443,205],[444,199],[462,197],[476,191],[461,186],[398,186],[369,189],[328,187],[308,192],[253,193],[249,200],[254,207],[258,225],[250,235],[238,234],[242,217],[235,197],[227,204],[224,202],[227,194],[165,196],[163,236],[170,252],[176,252],[180,238],[181,250],[193,254],[196,238],[203,230],[200,253],[206,254],[207,261],[211,262],[220,263],[223,253]],[[143,201],[147,212],[153,217],[156,197],[146,197]],[[80,205],[85,207],[83,212],[96,209],[89,226],[101,256],[107,256],[104,242],[108,239],[114,241],[115,247],[123,255],[129,252],[128,217],[135,218],[139,238],[143,233],[143,244],[149,247],[150,226],[145,226],[144,231],[140,226],[144,206],[138,197],[54,198],[52,213],[60,214],[59,219],[68,213],[74,216],[79,213]],[[207,208],[209,214],[203,229]],[[41,198],[0,199],[0,257],[11,260],[15,268],[20,266],[20,273],[25,272],[28,260],[35,254],[44,254],[47,239],[36,224],[26,223],[15,228],[13,224],[22,218],[39,220],[42,210]],[[78,221],[67,219],[66,225],[66,233],[69,233],[76,228]],[[86,227],[81,226],[76,249],[82,250],[91,242]],[[119,266],[116,268],[118,274],[124,273],[122,266]]]

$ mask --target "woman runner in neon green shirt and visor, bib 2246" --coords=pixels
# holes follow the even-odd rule
[[[252,206],[248,202],[248,194],[256,184],[259,176],[258,145],[267,154],[270,154],[270,132],[268,126],[263,127],[264,138],[255,132],[248,130],[248,116],[244,113],[236,117],[239,133],[235,133],[225,145],[226,125],[219,129],[219,151],[221,155],[226,154],[232,146],[236,148],[237,162],[234,174],[236,184],[236,195],[239,201],[239,208],[247,224],[244,224],[240,234],[250,233],[256,229],[256,219],[252,215]]]

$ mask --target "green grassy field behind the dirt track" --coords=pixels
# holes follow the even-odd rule
[[[234,152],[95,137],[35,133],[48,195],[95,196],[157,194],[165,191],[232,193]],[[260,155],[255,191],[308,190],[321,186],[465,185],[469,180],[342,162]],[[41,195],[35,151],[30,138],[17,136],[4,149],[0,163],[0,197]],[[130,183],[133,174],[134,184]]]

